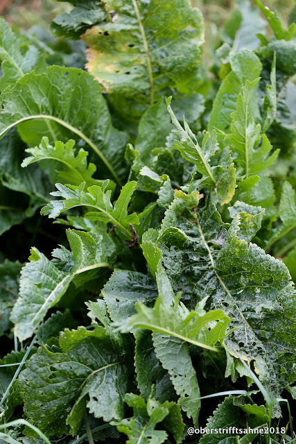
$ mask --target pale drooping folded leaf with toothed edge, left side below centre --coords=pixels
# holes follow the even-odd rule
[[[21,270],[19,298],[10,316],[20,341],[33,334],[70,282],[80,287],[94,279],[101,268],[112,266],[114,247],[110,249],[107,234],[67,230],[67,237],[72,253],[62,247],[53,251],[56,259],[49,261],[37,248],[32,248],[30,262]]]

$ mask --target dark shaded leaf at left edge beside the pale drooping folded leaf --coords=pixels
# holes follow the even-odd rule
[[[0,336],[10,327],[9,314],[19,291],[19,277],[22,264],[6,259],[0,264]]]

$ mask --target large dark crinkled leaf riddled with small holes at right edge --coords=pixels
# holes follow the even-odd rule
[[[225,347],[254,360],[265,388],[279,397],[289,380],[284,357],[296,359],[295,290],[286,266],[249,244],[259,224],[256,214],[240,212],[227,230],[214,205],[191,213],[181,208],[179,198],[166,212],[157,241],[173,288],[187,305],[208,296],[209,308],[234,319],[236,330]]]

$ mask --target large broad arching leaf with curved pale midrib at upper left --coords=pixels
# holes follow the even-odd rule
[[[0,135],[18,126],[31,146],[40,143],[41,135],[51,143],[75,137],[94,150],[117,182],[124,174],[125,135],[112,127],[101,86],[85,71],[53,66],[41,75],[26,74],[6,88],[1,104]]]

